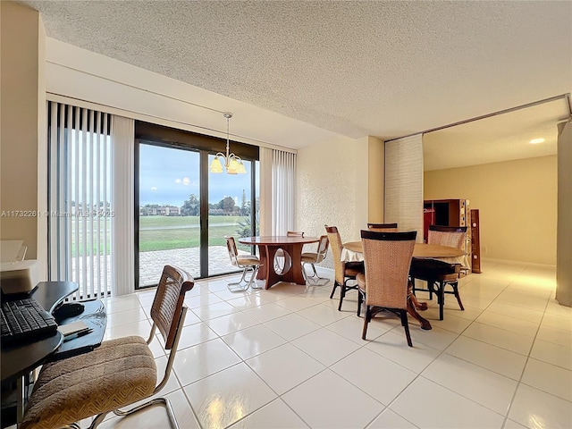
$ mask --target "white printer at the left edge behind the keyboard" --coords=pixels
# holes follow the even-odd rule
[[[27,259],[23,240],[0,240],[2,293],[25,293],[38,284],[38,260]]]

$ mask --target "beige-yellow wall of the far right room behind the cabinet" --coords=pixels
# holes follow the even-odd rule
[[[557,156],[425,172],[425,199],[478,208],[481,256],[556,265]]]

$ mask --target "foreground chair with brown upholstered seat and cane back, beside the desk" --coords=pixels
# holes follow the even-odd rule
[[[114,412],[117,416],[161,404],[171,427],[178,428],[166,398],[155,398],[129,410],[120,409],[146,400],[161,391],[169,380],[187,307],[185,293],[194,286],[188,273],[165,265],[151,306],[153,326],[147,342],[139,336],[104,341],[97,349],[42,366],[30,395],[20,429],[80,428],[75,422],[95,416],[90,428]],[[164,349],[171,350],[163,379],[157,382],[153,352],[148,345],[161,332]]]

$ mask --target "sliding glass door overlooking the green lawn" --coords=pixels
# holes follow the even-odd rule
[[[244,160],[246,174],[213,173],[210,151],[138,143],[138,288],[156,285],[164,265],[180,266],[195,279],[236,272],[224,237],[257,233],[257,161]]]

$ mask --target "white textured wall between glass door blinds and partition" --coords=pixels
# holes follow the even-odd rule
[[[338,227],[342,241],[359,240],[359,229],[365,225],[356,219],[367,213],[366,198],[357,198],[358,192],[366,192],[366,144],[339,138],[299,149],[297,230],[319,236],[326,223]],[[322,265],[333,268],[331,252]]]

